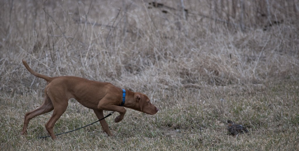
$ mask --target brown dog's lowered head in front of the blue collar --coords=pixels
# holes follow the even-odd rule
[[[152,103],[149,101],[149,98],[142,93],[135,92],[135,110],[139,110],[141,112],[154,115],[155,113],[158,112],[158,108],[152,105]]]

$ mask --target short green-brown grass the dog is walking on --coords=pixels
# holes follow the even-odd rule
[[[33,108],[29,100],[38,106],[41,96],[2,96],[1,100],[5,100],[1,101],[1,147],[6,150],[38,147],[57,150],[297,150],[299,98],[298,87],[294,85],[298,82],[285,83],[268,85],[269,88],[255,94],[242,94],[223,87],[209,89],[206,91],[210,91],[210,98],[199,96],[201,101],[196,103],[186,98],[167,108],[161,105],[154,116],[128,110],[122,122],[113,123],[114,114],[107,119],[115,134],[113,137],[103,133],[97,123],[58,136],[57,141],[37,138],[48,135],[44,124],[51,113],[32,119],[28,136],[19,136],[26,112],[23,106]],[[224,96],[223,101],[219,100],[221,96]],[[249,133],[227,135],[227,119],[244,124]],[[94,121],[96,117],[91,110],[71,101],[54,131],[62,133]]]

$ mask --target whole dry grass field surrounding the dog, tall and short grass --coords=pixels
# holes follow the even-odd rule
[[[0,150],[299,150],[299,1],[0,1]],[[51,138],[45,80],[72,75],[147,94],[127,109]],[[108,114],[105,111],[104,114]],[[96,121],[69,100],[54,133]],[[249,132],[228,135],[227,121]]]

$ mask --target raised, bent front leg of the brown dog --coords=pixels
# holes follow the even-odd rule
[[[97,107],[100,110],[116,111],[116,112],[120,113],[120,115],[114,119],[115,123],[120,122],[126,113],[126,109],[124,107],[113,105],[110,103],[105,103],[105,101],[102,101],[102,100],[100,101],[100,103]]]

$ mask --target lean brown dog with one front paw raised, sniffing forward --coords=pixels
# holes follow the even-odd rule
[[[36,77],[45,79],[48,85],[45,88],[44,103],[36,110],[32,110],[25,114],[24,126],[21,135],[27,134],[27,126],[35,116],[50,112],[54,109],[53,114],[45,125],[52,139],[56,139],[53,132],[55,122],[65,112],[70,98],[76,99],[86,108],[94,110],[98,119],[102,119],[103,110],[116,111],[120,115],[115,118],[115,122],[120,122],[126,113],[126,108],[138,110],[147,114],[155,114],[158,108],[152,105],[149,98],[142,93],[126,90],[125,103],[120,106],[123,100],[123,91],[108,82],[98,82],[83,79],[80,77],[62,76],[62,77],[47,77],[33,71],[26,61],[22,60],[26,69]],[[109,130],[105,119],[100,121],[104,132],[109,136],[112,133]]]

